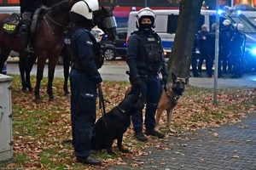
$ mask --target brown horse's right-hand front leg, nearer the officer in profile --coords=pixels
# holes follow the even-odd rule
[[[55,77],[55,65],[57,64],[58,55],[50,55],[49,56],[49,65],[48,65],[48,86],[47,86],[47,94],[49,95],[49,100],[54,100],[54,94],[52,91],[52,82]]]

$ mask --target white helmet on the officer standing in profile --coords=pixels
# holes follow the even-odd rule
[[[70,12],[80,14],[87,20],[92,20],[92,12],[99,10],[98,0],[83,0],[78,3],[74,3]]]

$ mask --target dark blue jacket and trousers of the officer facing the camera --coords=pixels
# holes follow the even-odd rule
[[[159,73],[167,77],[160,37],[152,30],[133,32],[128,42],[126,62],[131,79],[139,77],[144,82],[142,91],[146,102],[145,126],[147,130],[152,130],[155,127],[154,115],[161,93]],[[131,120],[135,132],[142,133],[143,111],[137,111]]]

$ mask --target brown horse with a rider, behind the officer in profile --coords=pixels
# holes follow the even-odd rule
[[[39,88],[43,78],[46,59],[49,59],[47,94],[49,95],[49,100],[54,99],[52,82],[54,78],[55,65],[58,60],[58,56],[61,53],[61,48],[63,47],[63,31],[67,29],[67,25],[69,23],[69,11],[72,5],[76,2],[78,1],[64,0],[60,3],[56,3],[51,8],[45,10],[44,14],[38,18],[38,26],[36,27],[36,31],[32,37],[32,47],[35,55],[38,56],[37,82],[34,89],[36,102],[40,101]],[[3,20],[8,17],[9,14],[0,14],[1,28],[3,28]],[[102,22],[105,18],[109,17],[109,12],[106,8],[102,7],[98,12],[96,12],[95,17],[99,18],[99,26],[103,26],[104,23]],[[103,29],[106,29],[106,32],[110,37],[114,37],[115,29],[108,29],[108,27],[104,27]],[[20,37],[6,34],[3,30],[0,30],[0,45],[0,70],[2,70],[3,63],[7,59],[11,49],[21,52],[25,48],[25,44],[20,41]],[[22,58],[22,56],[20,57]]]

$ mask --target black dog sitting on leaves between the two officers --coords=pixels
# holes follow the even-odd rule
[[[115,155],[112,150],[113,140],[118,140],[118,148],[121,152],[130,153],[122,146],[123,134],[130,127],[131,115],[142,107],[138,94],[129,94],[125,99],[102,116],[95,127],[95,136],[92,139],[93,150],[107,149],[108,154]]]

